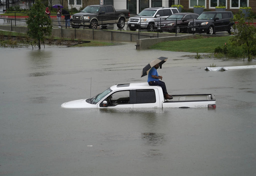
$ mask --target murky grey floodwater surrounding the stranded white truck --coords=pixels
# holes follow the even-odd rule
[[[256,65],[118,46],[0,48],[0,175],[255,175]],[[146,82],[160,56],[169,94],[213,93],[216,109],[65,109]]]

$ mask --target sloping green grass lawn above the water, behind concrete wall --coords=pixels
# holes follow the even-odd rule
[[[198,35],[196,39],[157,43],[151,46],[150,49],[191,53],[213,53],[216,47],[225,45],[230,37],[232,36],[206,38]]]

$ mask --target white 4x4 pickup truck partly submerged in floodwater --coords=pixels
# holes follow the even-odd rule
[[[63,108],[216,108],[214,94],[173,95],[165,100],[162,87],[145,83],[125,83],[111,86],[88,99],[63,103]]]

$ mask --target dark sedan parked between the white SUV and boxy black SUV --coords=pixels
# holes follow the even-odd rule
[[[168,32],[186,32],[188,22],[196,19],[199,15],[195,13],[176,13],[165,18],[163,21],[155,22],[156,29]],[[177,21],[177,25],[176,25]],[[176,31],[175,31],[176,29]]]

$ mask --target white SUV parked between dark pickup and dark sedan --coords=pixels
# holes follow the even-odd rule
[[[156,21],[160,21],[161,18],[167,18],[168,16],[179,13],[177,8],[172,7],[151,7],[142,10],[138,15],[129,18],[127,25],[131,31],[136,29],[147,29],[152,31]]]

